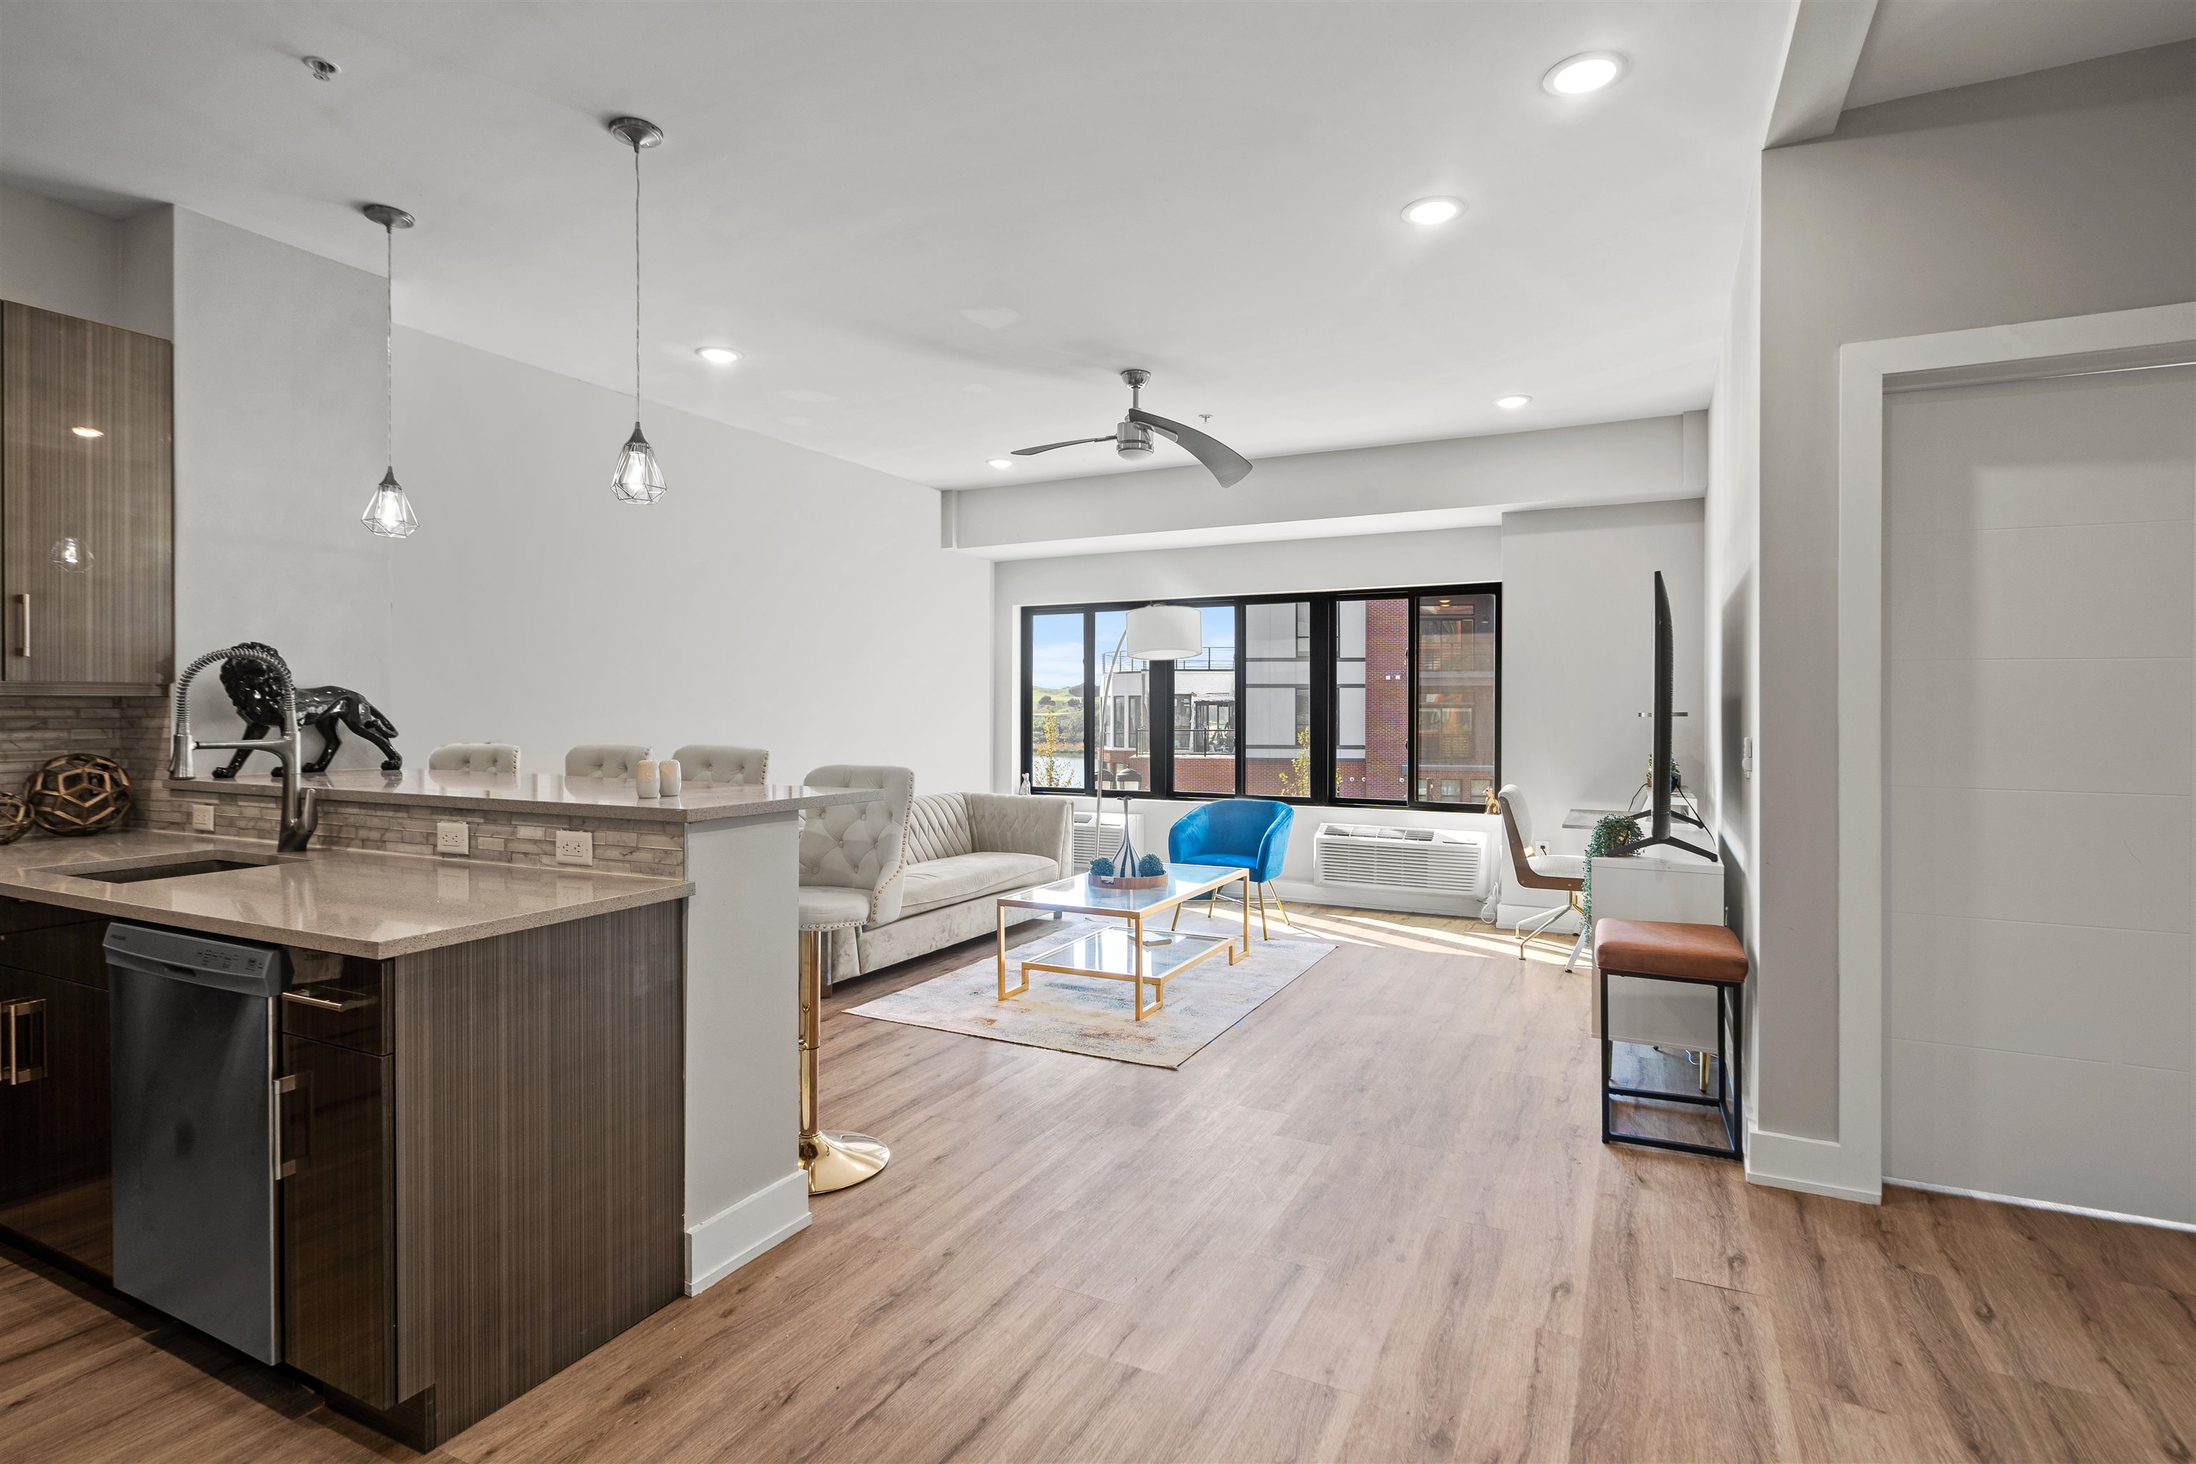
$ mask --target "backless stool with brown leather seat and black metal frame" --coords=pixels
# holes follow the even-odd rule
[[[1621,1089],[1612,1082],[1610,1069],[1616,1054],[1616,1038],[1610,1034],[1610,977],[1715,988],[1715,1097],[1671,1093],[1667,1089]],[[1711,1159],[1744,1159],[1746,946],[1739,944],[1739,937],[1724,926],[1680,924],[1673,920],[1596,920],[1594,981],[1601,988],[1601,1141],[1671,1148],[1680,1155],[1708,1155]],[[1671,1104],[1715,1108],[1715,1115],[1724,1122],[1728,1144],[1717,1148],[1713,1144],[1687,1144],[1684,1139],[1616,1133],[1618,1097],[1654,1097]]]

